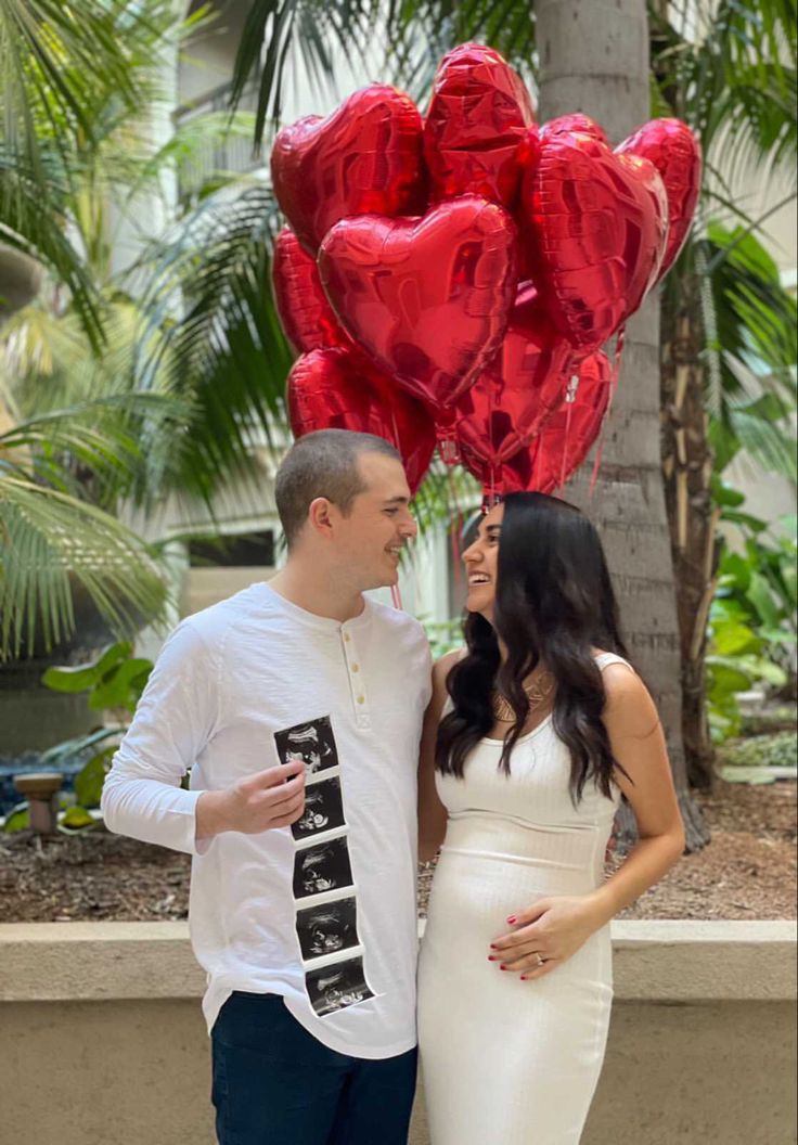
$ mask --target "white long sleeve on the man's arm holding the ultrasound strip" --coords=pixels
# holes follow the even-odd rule
[[[185,791],[180,783],[210,742],[218,718],[215,660],[191,621],[184,621],[164,645],[105,777],[101,810],[109,830],[198,853],[202,791]]]

